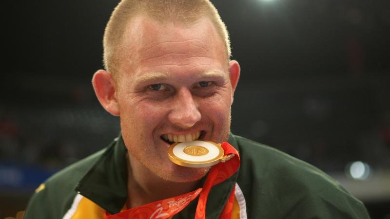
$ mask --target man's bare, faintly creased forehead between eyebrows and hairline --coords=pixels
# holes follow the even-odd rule
[[[182,23],[136,16],[127,27],[121,53],[125,73],[227,70],[225,45],[206,17]]]

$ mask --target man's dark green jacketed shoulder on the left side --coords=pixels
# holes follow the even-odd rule
[[[105,150],[71,164],[42,183],[31,197],[24,218],[62,218],[76,197],[77,183]]]

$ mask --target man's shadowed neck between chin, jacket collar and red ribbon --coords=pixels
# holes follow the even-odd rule
[[[127,163],[128,209],[194,191],[200,181],[171,182],[156,176],[137,159],[127,159]]]

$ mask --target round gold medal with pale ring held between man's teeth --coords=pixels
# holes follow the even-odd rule
[[[230,159],[230,156],[223,155],[221,145],[210,141],[177,142],[168,148],[169,159],[187,167],[207,167]]]

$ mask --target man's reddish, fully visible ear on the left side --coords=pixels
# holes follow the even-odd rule
[[[95,94],[105,110],[118,116],[119,105],[116,96],[116,84],[110,73],[104,70],[98,70],[92,78]]]

